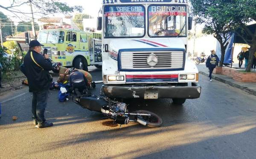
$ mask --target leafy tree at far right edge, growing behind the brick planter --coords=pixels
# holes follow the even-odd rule
[[[235,32],[250,46],[249,62],[245,69],[246,72],[250,72],[253,55],[256,52],[256,28],[254,30],[248,29],[247,23],[253,20],[256,21],[256,0],[232,0],[229,4],[227,12],[236,28]],[[241,29],[243,34],[238,32],[237,28]]]

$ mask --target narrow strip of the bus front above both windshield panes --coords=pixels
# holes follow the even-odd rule
[[[188,0],[102,0],[104,5],[131,5],[131,4],[185,4]]]

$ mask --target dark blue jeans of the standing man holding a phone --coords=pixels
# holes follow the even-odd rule
[[[48,90],[41,90],[33,92],[32,99],[32,114],[33,119],[37,120],[39,124],[44,123],[44,111],[47,106]]]

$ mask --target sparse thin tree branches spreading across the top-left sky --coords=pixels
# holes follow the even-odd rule
[[[79,11],[82,12],[82,6],[68,6],[67,3],[61,3],[58,0],[12,0],[12,4],[9,6],[0,5],[0,9],[5,9],[15,16],[20,17],[21,15],[30,18],[31,11],[28,10],[26,12],[20,11],[19,7],[27,7],[27,5],[32,4],[33,8],[35,8],[35,14],[54,14],[54,13],[63,13],[68,14],[70,12]]]

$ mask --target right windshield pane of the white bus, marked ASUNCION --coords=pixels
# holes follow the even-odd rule
[[[148,27],[150,37],[185,37],[186,6],[149,6]]]

